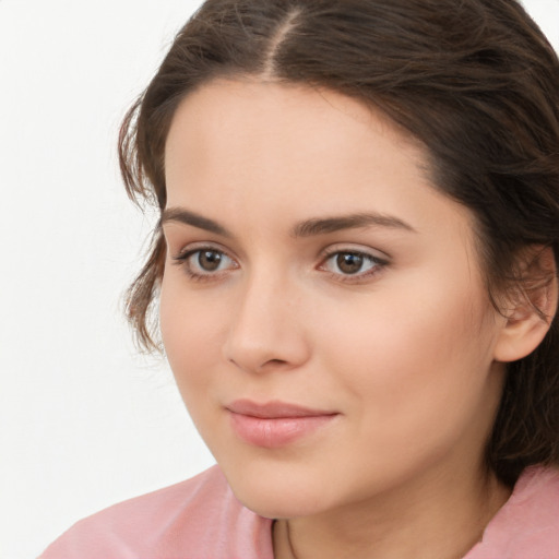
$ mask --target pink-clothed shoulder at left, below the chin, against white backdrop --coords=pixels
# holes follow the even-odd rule
[[[214,466],[78,522],[40,559],[272,556],[271,521],[242,507]]]

